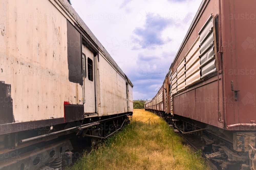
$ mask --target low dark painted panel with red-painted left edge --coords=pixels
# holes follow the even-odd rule
[[[73,122],[84,119],[83,105],[66,105],[65,106],[65,122]]]

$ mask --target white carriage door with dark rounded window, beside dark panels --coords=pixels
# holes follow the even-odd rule
[[[95,113],[95,80],[94,80],[94,55],[84,45],[82,45],[83,62],[83,104],[84,113]]]

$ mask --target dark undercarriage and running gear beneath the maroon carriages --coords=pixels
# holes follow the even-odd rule
[[[204,159],[205,163],[209,165],[212,170],[226,170],[233,165],[237,166],[236,169],[238,168],[243,170],[248,168],[249,165],[244,163],[243,165],[239,165],[238,161],[232,160],[234,158],[231,158],[230,155],[228,155],[228,152],[234,155],[237,154],[227,148],[229,145],[231,145],[231,143],[225,139],[214,136],[209,128],[200,129],[194,126],[194,128],[191,128],[188,131],[187,127],[189,125],[186,124],[185,126],[185,124],[180,123],[179,121],[181,120],[174,119],[173,117],[161,112],[153,111],[153,113],[165,119],[170,128],[173,128],[174,132],[178,133],[182,138],[184,138],[187,144],[190,145],[195,152],[200,153],[200,157]],[[185,127],[185,129],[183,129],[183,127]],[[228,163],[228,161],[230,161],[230,163]]]

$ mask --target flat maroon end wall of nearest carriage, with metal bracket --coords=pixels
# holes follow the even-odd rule
[[[222,1],[221,5],[224,97],[228,99],[225,107],[226,125],[249,123],[250,120],[256,121],[256,1]],[[234,100],[230,81],[234,82],[234,89],[240,90],[237,101]],[[227,130],[249,130],[249,127]]]

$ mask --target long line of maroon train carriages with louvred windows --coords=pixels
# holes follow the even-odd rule
[[[196,131],[218,168],[256,169],[255,1],[203,0],[145,110]]]

